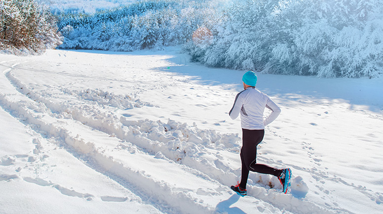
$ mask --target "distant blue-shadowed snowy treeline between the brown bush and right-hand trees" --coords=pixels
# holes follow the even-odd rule
[[[144,0],[95,14],[61,14],[61,48],[132,51],[184,44],[217,16],[209,1]]]

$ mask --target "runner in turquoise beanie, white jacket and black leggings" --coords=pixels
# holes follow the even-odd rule
[[[229,112],[230,118],[233,120],[238,117],[239,113],[241,114],[242,148],[240,156],[242,178],[241,182],[238,181],[237,185],[231,186],[231,189],[240,196],[247,195],[246,184],[249,171],[255,171],[277,176],[282,184],[283,192],[286,193],[289,185],[288,180],[291,177],[291,170],[278,170],[264,164],[256,163],[257,145],[263,140],[265,126],[273,122],[281,110],[268,95],[255,87],[257,84],[257,75],[254,72],[246,72],[242,77],[242,81],[244,90],[236,95],[233,107]],[[271,114],[264,120],[265,107],[271,110]]]

